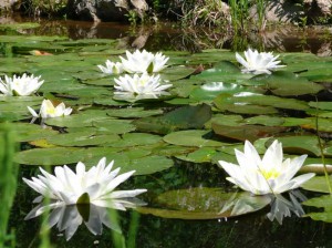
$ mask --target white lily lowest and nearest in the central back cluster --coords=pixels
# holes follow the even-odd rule
[[[147,73],[126,74],[114,79],[114,87],[120,92],[131,92],[134,94],[158,94],[170,87],[172,84],[160,84],[159,75],[148,75]]]

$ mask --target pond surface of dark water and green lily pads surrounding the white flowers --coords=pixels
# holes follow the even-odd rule
[[[326,193],[321,168],[303,167],[302,172],[318,172],[317,180],[283,194],[287,200],[280,202],[234,188],[217,166],[220,159],[236,163],[234,149],[242,151],[246,140],[263,154],[276,138],[282,142],[286,157],[308,154],[304,164],[312,165],[321,164],[324,155],[332,164],[329,29],[278,28],[240,42],[222,31],[179,30],[170,24],[42,21],[34,29],[7,25],[1,32],[0,75],[28,72],[45,81],[38,95],[0,96],[0,121],[12,122],[21,144],[14,157],[20,170],[9,219],[14,247],[38,247],[45,238],[40,235],[42,217],[24,220],[35,207],[37,194],[21,178],[40,174],[38,166],[74,167],[82,161],[89,167],[101,157],[115,159],[121,173],[136,170],[121,189],[146,188],[138,196],[145,206],[111,213],[117,219],[111,218],[111,228],[104,218],[89,220],[102,216],[103,208],[63,209],[70,218],[58,216],[58,227],[50,231],[55,247],[124,247],[118,240],[126,247],[332,247],[331,200],[319,198],[321,205],[299,209],[300,202]],[[242,74],[235,51],[248,44],[280,53],[287,66],[271,75]],[[160,73],[173,84],[169,95],[114,94],[117,75],[105,75],[96,65],[107,59],[118,61],[133,48],[163,51],[170,58]],[[219,83],[218,90],[204,90],[214,83]],[[27,106],[39,110],[44,97],[74,111],[42,125],[40,120],[30,123]],[[319,219],[313,220],[303,217],[302,209],[323,214],[311,215]],[[269,219],[278,213],[284,218]],[[68,234],[59,229],[73,225],[76,215],[85,223],[68,241]],[[89,230],[101,225],[103,235]],[[122,235],[112,229],[121,229]]]

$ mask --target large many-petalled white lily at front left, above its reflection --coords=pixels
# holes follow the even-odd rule
[[[66,165],[56,166],[55,175],[51,175],[40,167],[42,175],[23,178],[41,196],[34,203],[41,203],[43,197],[61,202],[64,205],[93,204],[101,207],[113,207],[121,209],[121,200],[135,197],[146,189],[114,190],[121,183],[129,178],[135,170],[117,175],[120,168],[111,170],[114,161],[106,166],[106,158],[103,157],[96,166],[85,170],[85,165],[79,162],[76,173]]]

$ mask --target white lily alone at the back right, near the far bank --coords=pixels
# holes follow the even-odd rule
[[[286,66],[279,65],[281,62],[277,60],[279,55],[273,56],[272,52],[258,52],[257,50],[248,49],[245,51],[245,58],[236,53],[237,61],[245,66],[241,70],[242,73],[271,74],[271,71]]]

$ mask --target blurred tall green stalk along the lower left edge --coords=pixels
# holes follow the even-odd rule
[[[0,125],[0,247],[14,247],[14,236],[8,235],[8,220],[17,192],[18,166],[13,163],[15,153],[14,131],[10,123]],[[10,244],[10,245],[9,245]]]

